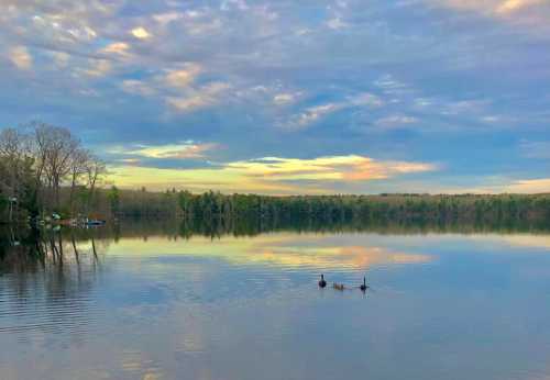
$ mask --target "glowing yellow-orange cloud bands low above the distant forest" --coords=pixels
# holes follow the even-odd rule
[[[131,154],[156,158],[200,158],[213,144],[182,144],[142,147]],[[333,183],[365,182],[438,170],[428,163],[375,160],[370,157],[327,156],[311,159],[263,157],[251,160],[218,163],[216,168],[160,169],[116,167],[112,180],[122,187],[142,183],[155,188],[158,183],[194,183],[197,190],[212,187],[229,191],[264,193],[330,193]],[[129,171],[130,170],[130,171]],[[135,172],[129,176],[129,172]],[[156,175],[155,175],[156,172]],[[134,178],[135,176],[135,178]],[[145,177],[144,177],[145,176]],[[131,177],[131,178],[130,178]],[[156,183],[156,185],[155,185]]]

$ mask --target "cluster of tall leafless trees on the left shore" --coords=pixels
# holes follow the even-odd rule
[[[67,128],[32,122],[0,130],[0,198],[2,204],[10,202],[10,215],[21,195],[32,215],[59,211],[62,189],[68,194],[64,205],[74,214],[78,187],[87,190],[80,205],[87,213],[106,172],[106,165]]]

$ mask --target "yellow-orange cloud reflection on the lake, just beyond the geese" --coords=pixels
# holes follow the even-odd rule
[[[267,265],[284,268],[365,269],[380,265],[419,264],[430,256],[392,248],[358,244],[356,239],[332,242],[330,236],[272,234],[254,238],[210,241],[194,237],[177,243],[161,237],[147,245],[138,239],[121,241],[111,255],[132,253],[142,257],[188,255],[216,257],[234,265]],[[139,264],[138,264],[139,265]],[[150,264],[147,264],[150,265]]]

